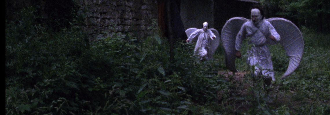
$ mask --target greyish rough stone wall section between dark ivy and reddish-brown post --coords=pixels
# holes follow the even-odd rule
[[[76,0],[78,15],[84,18],[83,30],[93,41],[114,33],[145,37],[157,22],[156,0]]]

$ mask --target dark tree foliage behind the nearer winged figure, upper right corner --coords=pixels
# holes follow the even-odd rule
[[[283,17],[298,27],[329,32],[330,2],[328,0],[260,0],[271,17]]]

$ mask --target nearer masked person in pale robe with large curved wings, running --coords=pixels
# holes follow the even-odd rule
[[[284,18],[265,19],[260,7],[251,9],[251,19],[234,17],[229,19],[221,31],[221,41],[225,49],[226,67],[237,72],[236,57],[241,57],[242,41],[248,38],[249,44],[254,44],[247,51],[247,63],[254,67],[255,76],[264,76],[267,85],[275,81],[273,64],[268,45],[280,43],[290,62],[281,79],[290,75],[300,64],[304,41],[300,30],[289,20]]]

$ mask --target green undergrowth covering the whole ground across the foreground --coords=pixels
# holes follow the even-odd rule
[[[300,67],[280,80],[288,59],[272,46],[277,82],[264,87],[217,75],[225,70],[221,49],[215,59],[192,56],[194,45],[176,43],[174,60],[158,34],[135,38],[117,33],[86,42],[75,22],[53,31],[35,22],[33,11],[6,20],[6,114],[329,114],[329,35],[302,29]],[[274,48],[275,47],[275,48]],[[221,46],[219,47],[221,48]],[[249,71],[245,59],[239,70]]]

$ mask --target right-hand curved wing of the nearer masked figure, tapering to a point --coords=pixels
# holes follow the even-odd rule
[[[300,64],[304,52],[304,39],[300,30],[291,21],[284,18],[267,19],[280,34],[279,43],[284,48],[286,55],[290,57],[290,62],[281,79],[290,75]],[[267,40],[268,44],[276,44],[271,40]]]

